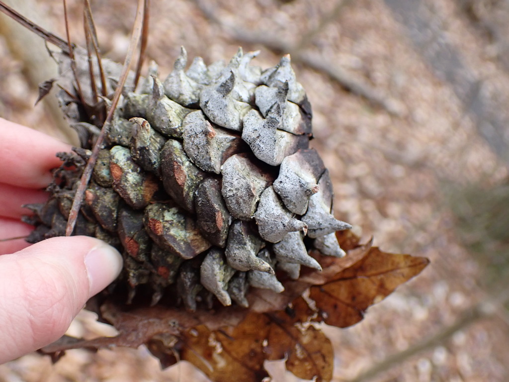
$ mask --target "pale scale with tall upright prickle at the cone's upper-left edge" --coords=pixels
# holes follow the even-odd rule
[[[184,72],[187,65],[187,51],[180,47],[180,55],[175,61],[174,69],[164,80],[164,91],[169,99],[184,106],[194,106],[200,101],[203,85],[196,83]]]

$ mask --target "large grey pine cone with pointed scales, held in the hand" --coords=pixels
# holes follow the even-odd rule
[[[250,66],[257,54],[239,49],[228,65],[208,67],[195,58],[185,71],[182,48],[163,82],[153,66],[142,91],[125,90],[74,231],[123,253],[110,292],[127,284],[128,302],[149,289],[152,304],[194,310],[213,294],[246,307],[249,286],[284,290],[276,271],[298,279],[302,265],[320,270],[309,251],[344,256],[334,232],[351,226],[332,215],[329,173],[308,147],[306,94],[289,56],[262,71]],[[65,234],[99,131],[69,91],[61,100],[82,148],[59,154],[50,200],[30,206],[30,242]]]

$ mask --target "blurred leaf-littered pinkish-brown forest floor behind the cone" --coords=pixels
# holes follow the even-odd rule
[[[69,3],[71,34],[82,44],[81,2]],[[133,6],[92,3],[103,52],[122,61]],[[324,328],[336,351],[334,380],[506,381],[508,3],[152,3],[148,55],[162,77],[180,45],[207,63],[239,45],[260,49],[262,67],[290,52],[313,105],[314,146],[335,183],[336,216],[383,250],[432,261],[353,328]],[[37,6],[64,36],[60,0]],[[33,107],[33,69],[12,53],[11,39],[0,36],[0,116],[51,131],[59,121],[47,106]],[[83,314],[71,331],[107,332],[92,321]],[[295,380],[280,363],[270,370],[275,381]],[[0,366],[1,382],[191,379],[205,380],[185,364],[160,371],[145,349],[74,350],[55,366],[32,354]]]

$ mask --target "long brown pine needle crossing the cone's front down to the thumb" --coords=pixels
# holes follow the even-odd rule
[[[89,184],[90,177],[92,176],[92,171],[94,170],[95,163],[97,161],[97,157],[99,155],[99,150],[102,148],[102,143],[104,141],[104,137],[108,130],[109,124],[111,123],[111,119],[113,118],[113,114],[119,102],[120,96],[122,95],[122,90],[124,89],[124,85],[129,74],[129,69],[131,67],[131,60],[134,54],[136,47],[138,46],[139,40],[142,35],[143,29],[143,18],[145,14],[145,0],[138,0],[138,5],[136,9],[136,18],[134,20],[133,31],[131,35],[131,41],[129,42],[129,49],[126,54],[126,58],[124,61],[124,65],[122,67],[122,73],[119,77],[119,83],[117,85],[117,89],[115,90],[115,95],[113,100],[111,101],[111,106],[109,108],[108,114],[106,116],[106,120],[102,126],[101,132],[97,137],[97,141],[92,150],[92,155],[90,156],[89,161],[87,162],[87,166],[85,166],[83,170],[83,174],[81,175],[80,182],[78,184],[78,188],[76,189],[76,195],[74,196],[74,200],[72,203],[72,208],[69,213],[69,220],[67,221],[66,227],[66,236],[70,236],[74,231],[74,226],[76,225],[76,219],[78,217],[78,212],[81,207],[81,202],[83,200],[83,195],[85,193],[85,189]]]

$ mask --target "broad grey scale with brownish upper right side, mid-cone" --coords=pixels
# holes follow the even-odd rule
[[[228,210],[236,219],[251,219],[271,179],[252,161],[239,154],[224,162],[221,174],[221,193]]]

